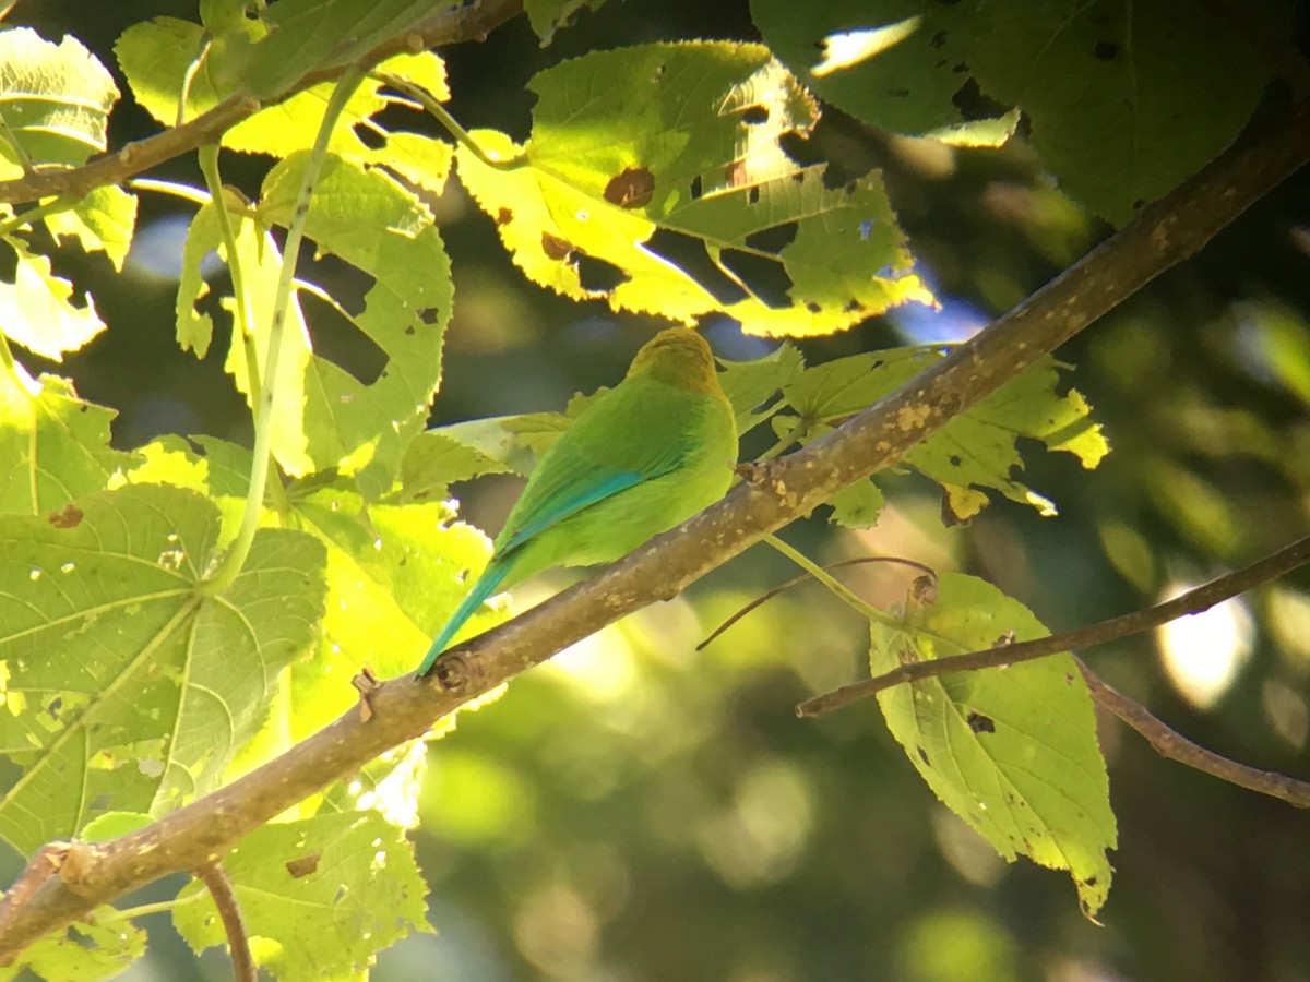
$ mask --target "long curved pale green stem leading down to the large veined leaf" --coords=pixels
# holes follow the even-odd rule
[[[255,431],[254,453],[250,464],[250,486],[246,488],[245,511],[241,515],[241,529],[233,541],[223,564],[217,572],[199,585],[203,596],[221,593],[241,572],[246,556],[250,554],[250,545],[254,542],[254,533],[259,528],[259,515],[263,511],[263,495],[269,483],[269,457],[272,452],[272,411],[274,395],[278,380],[278,363],[282,357],[282,335],[287,326],[287,309],[291,305],[291,295],[296,282],[296,259],[300,255],[300,245],[305,237],[305,221],[309,217],[309,202],[313,198],[314,182],[328,156],[328,140],[333,127],[341,117],[342,110],[350,101],[355,86],[364,73],[358,65],[347,68],[337,80],[328,107],[324,110],[322,122],[314,136],[313,149],[305,158],[304,173],[300,178],[300,190],[296,192],[296,206],[287,225],[287,244],[282,254],[282,274],[278,279],[278,292],[272,301],[272,316],[269,325],[269,354],[263,360],[263,385],[259,386],[259,398],[255,405]]]

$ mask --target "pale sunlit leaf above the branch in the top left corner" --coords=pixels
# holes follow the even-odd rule
[[[25,160],[84,164],[105,149],[117,101],[113,76],[72,35],[54,45],[30,27],[0,30],[0,177],[21,177]]]

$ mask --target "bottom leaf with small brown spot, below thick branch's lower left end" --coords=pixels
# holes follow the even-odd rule
[[[257,960],[282,982],[355,978],[373,955],[431,931],[414,850],[376,812],[317,814],[246,835],[223,860]],[[214,901],[193,881],[173,923],[195,951],[227,937]]]

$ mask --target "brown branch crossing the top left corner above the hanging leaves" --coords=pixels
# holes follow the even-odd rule
[[[468,7],[455,7],[432,17],[411,31],[388,38],[363,55],[356,64],[371,68],[393,55],[422,51],[428,47],[485,41],[487,34],[523,12],[523,0],[477,0]],[[335,67],[305,75],[275,100],[259,100],[237,93],[182,126],[165,130],[144,140],[128,143],[117,153],[105,155],[67,170],[41,170],[13,181],[0,181],[0,203],[22,204],[51,195],[83,198],[105,185],[119,185],[127,178],[159,166],[183,153],[217,143],[228,130],[261,109],[276,105],[297,92],[333,81],[343,71]]]

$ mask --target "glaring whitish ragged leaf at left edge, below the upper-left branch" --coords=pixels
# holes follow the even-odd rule
[[[14,238],[4,240],[17,254],[14,280],[0,280],[0,330],[28,351],[52,361],[77,351],[105,330],[90,295],[85,306],[71,302],[72,284],[55,276],[50,259],[37,255]]]

